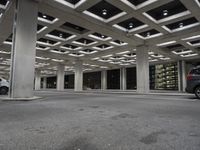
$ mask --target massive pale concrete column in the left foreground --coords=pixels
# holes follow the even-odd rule
[[[38,2],[16,1],[11,54],[10,98],[31,98],[34,87]]]

